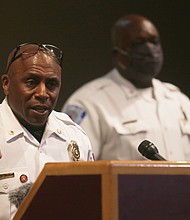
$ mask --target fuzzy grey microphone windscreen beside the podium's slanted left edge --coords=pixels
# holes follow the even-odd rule
[[[20,186],[17,189],[10,191],[9,201],[13,203],[17,207],[17,209],[22,203],[23,199],[28,194],[31,186],[32,186],[32,183],[26,183],[23,186]]]

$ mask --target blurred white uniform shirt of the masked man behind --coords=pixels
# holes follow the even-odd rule
[[[78,89],[62,111],[85,130],[96,159],[142,160],[147,139],[167,160],[190,161],[190,101],[169,83],[137,89],[116,69]]]

